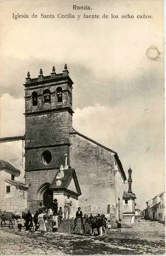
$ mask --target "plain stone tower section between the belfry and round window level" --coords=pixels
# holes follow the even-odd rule
[[[25,147],[69,143],[69,122],[66,112],[26,116]]]

